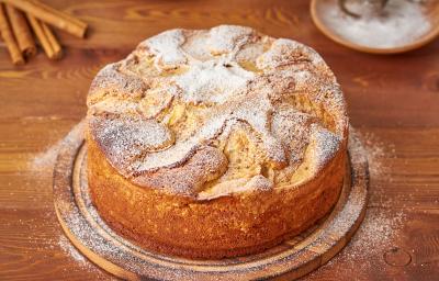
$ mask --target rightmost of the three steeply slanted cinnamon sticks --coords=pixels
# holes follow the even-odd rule
[[[61,56],[61,47],[50,29],[32,14],[26,14],[26,16],[47,57],[50,59],[59,58]]]

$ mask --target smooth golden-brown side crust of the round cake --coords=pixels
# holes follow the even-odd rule
[[[200,202],[131,183],[88,137],[89,187],[102,218],[146,249],[189,258],[258,252],[305,231],[337,201],[345,159],[339,150],[325,173],[300,187]]]

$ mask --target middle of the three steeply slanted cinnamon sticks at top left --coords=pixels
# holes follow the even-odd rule
[[[5,5],[7,14],[15,35],[16,43],[21,53],[25,57],[32,57],[36,54],[36,46],[32,36],[31,29],[27,25],[24,14],[10,4]]]

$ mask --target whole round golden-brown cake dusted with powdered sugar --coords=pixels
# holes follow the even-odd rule
[[[170,30],[88,95],[88,184],[144,249],[217,259],[300,234],[337,202],[348,117],[322,57],[250,27]]]

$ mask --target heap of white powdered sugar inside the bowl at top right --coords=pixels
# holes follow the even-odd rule
[[[334,4],[322,5],[323,22],[331,26],[344,40],[376,48],[393,48],[413,43],[424,36],[431,23],[424,14],[421,3],[415,1],[390,0],[379,15],[363,13],[367,7],[359,1],[347,1],[349,11],[361,11],[357,19],[346,14]],[[364,1],[367,2],[367,1]]]

